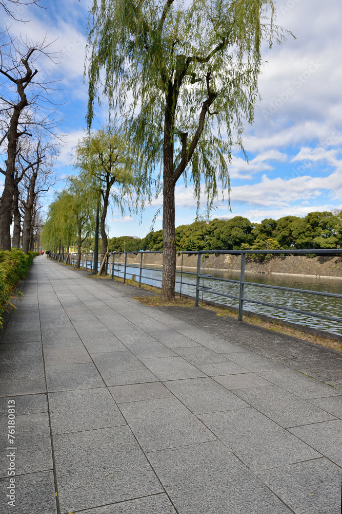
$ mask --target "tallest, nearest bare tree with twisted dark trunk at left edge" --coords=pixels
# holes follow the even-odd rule
[[[0,207],[0,248],[10,250],[10,226],[12,222],[12,205],[15,191],[15,161],[18,155],[19,139],[31,136],[37,128],[51,134],[58,124],[51,109],[47,93],[51,82],[43,77],[36,81],[37,59],[44,55],[54,60],[48,49],[50,45],[43,42],[34,44],[29,40],[11,38],[8,31],[0,40],[0,77],[2,77],[2,96],[0,96],[0,145],[6,155],[0,172],[5,175],[5,185]],[[29,95],[28,95],[29,91]],[[39,107],[46,107],[49,102],[50,113],[45,117],[34,116]]]

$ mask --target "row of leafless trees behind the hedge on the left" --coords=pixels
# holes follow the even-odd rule
[[[39,4],[39,0],[0,2],[5,12],[16,18],[18,5]],[[23,21],[23,20],[22,20]],[[24,252],[32,247],[33,230],[39,224],[39,198],[55,183],[53,160],[58,144],[52,142],[59,124],[48,96],[52,82],[38,71],[37,60],[58,62],[49,53],[46,40],[12,38],[8,30],[0,38],[0,148],[5,176],[0,206],[0,248],[11,249],[10,227],[14,216],[13,246]],[[39,66],[43,68],[42,64]],[[23,218],[23,228],[22,228]]]

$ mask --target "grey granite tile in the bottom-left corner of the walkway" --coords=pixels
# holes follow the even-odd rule
[[[2,514],[57,514],[53,471],[15,477],[15,504],[7,504],[8,478],[0,480]]]

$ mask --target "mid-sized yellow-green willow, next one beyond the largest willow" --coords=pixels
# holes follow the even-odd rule
[[[75,167],[81,170],[87,188],[97,191],[98,201],[101,200],[102,262],[108,250],[106,216],[109,205],[118,208],[124,214],[125,207],[131,211],[135,203],[132,152],[119,130],[103,126],[78,141]],[[106,272],[104,267],[103,273]]]

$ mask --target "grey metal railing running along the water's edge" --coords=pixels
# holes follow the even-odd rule
[[[162,273],[163,273],[163,270],[162,268],[155,268],[155,267],[150,267],[151,265],[148,265],[149,267],[148,268],[144,268],[143,266],[143,258],[144,258],[144,255],[153,255],[153,254],[162,254],[163,251],[140,251],[140,252],[111,252],[110,254],[110,261],[108,263],[108,267],[107,267],[107,273],[108,271],[110,272],[110,277],[113,279],[114,278],[114,274],[116,274],[116,276],[120,276],[122,275],[123,276],[123,279],[124,279],[124,283],[126,282],[126,278],[127,276],[131,276],[134,277],[134,280],[136,279],[136,275],[138,274],[138,280],[136,280],[138,283],[139,283],[139,287],[141,287],[142,285],[142,282],[143,279],[147,279],[147,280],[153,280],[153,281],[156,281],[156,282],[162,282]],[[326,315],[323,315],[323,314],[319,314],[319,313],[316,313],[316,312],[312,312],[312,311],[307,311],[307,310],[301,310],[301,309],[295,309],[295,308],[292,308],[292,307],[287,307],[287,306],[284,306],[284,305],[277,305],[277,304],[274,304],[274,303],[269,303],[269,302],[262,302],[262,301],[259,301],[259,300],[255,300],[255,299],[252,299],[252,298],[248,298],[245,296],[245,286],[254,286],[254,287],[262,287],[262,288],[268,288],[268,289],[276,289],[276,290],[279,290],[279,291],[291,291],[291,292],[296,292],[296,293],[301,293],[301,294],[304,294],[304,295],[317,295],[317,296],[324,296],[324,297],[331,297],[331,298],[337,298],[337,299],[342,299],[342,295],[339,295],[339,294],[335,294],[335,293],[329,293],[329,292],[323,292],[323,291],[315,291],[315,290],[308,290],[308,289],[297,289],[297,288],[292,288],[292,287],[283,287],[283,286],[276,286],[276,285],[269,285],[269,284],[260,284],[260,283],[257,283],[257,282],[248,282],[245,280],[245,264],[246,264],[246,256],[248,255],[253,255],[253,254],[261,254],[261,255],[308,255],[308,254],[314,254],[314,255],[319,255],[319,256],[337,256],[337,255],[340,255],[342,256],[342,249],[326,249],[326,250],[244,250],[244,251],[241,251],[241,250],[203,250],[203,251],[184,251],[184,252],[178,252],[178,255],[182,255],[182,263],[181,263],[181,266],[180,266],[180,281],[179,280],[176,280],[176,284],[180,284],[180,296],[182,296],[182,285],[187,285],[187,286],[191,286],[191,287],[194,287],[195,288],[195,294],[194,294],[194,298],[195,298],[195,305],[196,307],[198,307],[199,305],[199,295],[200,295],[200,292],[205,292],[205,291],[210,291],[210,294],[211,295],[215,295],[217,297],[225,297],[225,298],[230,298],[232,300],[235,300],[238,302],[238,320],[239,321],[242,321],[243,320],[243,309],[244,309],[244,304],[245,303],[252,303],[252,304],[257,304],[257,305],[261,305],[261,306],[264,306],[264,307],[271,307],[273,309],[279,309],[279,310],[283,310],[283,311],[288,311],[288,312],[291,312],[291,313],[295,313],[295,314],[300,314],[300,315],[305,315],[305,316],[311,316],[311,317],[314,317],[314,318],[320,318],[320,319],[323,319],[323,320],[329,320],[329,321],[333,321],[333,322],[337,322],[337,323],[342,323],[342,318],[339,318],[339,317],[333,317],[333,316],[326,316]],[[186,254],[186,255],[197,255],[197,270],[196,272],[193,272],[193,271],[186,271],[183,269],[183,255]],[[203,272],[201,271],[201,268],[202,268],[202,261],[205,261],[205,256],[207,255],[210,255],[210,254],[228,254],[228,255],[240,255],[240,277],[239,277],[239,280],[233,280],[233,279],[223,279],[223,278],[218,278],[218,277],[213,277],[211,274],[208,274],[208,273],[204,273],[204,270]],[[137,263],[132,263],[132,262],[127,262],[127,258],[128,256],[131,255],[131,256],[134,256],[135,259],[137,258],[138,255],[140,255],[140,259],[139,259],[139,263],[137,265]],[[123,262],[120,263],[120,259],[122,259],[122,257],[124,256],[124,260]],[[51,258],[55,259],[55,260],[62,260],[62,259],[58,259],[58,254],[51,254],[50,255]],[[70,264],[75,264],[76,262],[76,257],[77,257],[77,254],[76,253],[70,253],[69,254],[69,263]],[[117,260],[116,260],[116,257],[117,257]],[[99,258],[100,259],[100,258]],[[81,267],[83,269],[89,269],[89,270],[92,270],[93,269],[93,253],[86,253],[86,254],[82,254],[81,256]],[[117,266],[117,267],[115,267]],[[121,266],[121,268],[120,268]],[[127,267],[134,267],[137,269],[138,273],[133,273],[132,271],[128,271],[127,270]],[[203,266],[204,268],[204,266]],[[148,277],[146,275],[143,274],[143,270],[144,269],[149,269],[149,270],[154,270],[154,271],[158,271],[161,273],[160,275],[160,279],[158,278],[151,278],[151,277]],[[196,276],[196,282],[195,283],[191,283],[191,282],[185,282],[183,280],[183,275],[186,274],[186,275],[192,275],[192,276]],[[210,281],[218,281],[218,282],[228,282],[228,283],[233,283],[233,284],[237,284],[239,286],[239,294],[238,296],[237,295],[228,295],[226,293],[223,293],[223,292],[220,292],[220,291],[215,291],[212,289],[212,287],[210,286],[206,286],[204,285],[204,280],[206,279],[210,279]],[[202,281],[202,285],[200,284],[200,282]],[[342,309],[341,309],[342,311]]]

